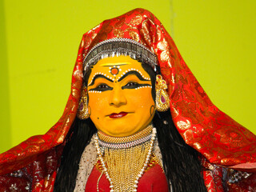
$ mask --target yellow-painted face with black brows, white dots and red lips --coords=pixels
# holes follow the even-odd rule
[[[98,130],[126,137],[143,130],[154,117],[150,75],[129,56],[103,58],[88,79],[90,118]]]

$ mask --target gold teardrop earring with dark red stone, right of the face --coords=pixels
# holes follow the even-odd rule
[[[155,108],[160,112],[166,111],[170,107],[170,98],[166,90],[166,81],[162,79],[160,74],[158,74],[155,82]]]

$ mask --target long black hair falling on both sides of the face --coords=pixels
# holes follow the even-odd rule
[[[155,98],[155,73],[147,64],[142,67],[152,81],[152,96]],[[86,74],[87,82],[90,72]],[[162,163],[166,179],[171,183],[174,192],[205,192],[206,186],[202,177],[202,165],[197,150],[188,146],[174,126],[170,110],[157,112],[153,124],[158,132],[158,144],[162,153]],[[54,192],[70,192],[74,190],[78,174],[78,164],[84,148],[96,133],[94,123],[90,119],[75,118],[66,138],[61,164],[54,183]]]

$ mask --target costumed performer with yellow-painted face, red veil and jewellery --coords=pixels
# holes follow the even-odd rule
[[[255,144],[136,9],[83,35],[62,118],[1,154],[0,190],[255,191]]]

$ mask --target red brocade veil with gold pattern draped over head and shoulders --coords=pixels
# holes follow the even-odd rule
[[[12,183],[20,189],[53,190],[66,134],[78,109],[83,58],[98,42],[110,38],[134,39],[154,51],[168,84],[174,124],[186,143],[202,154],[205,166],[216,171],[215,176],[222,176],[222,166],[256,171],[255,135],[210,102],[162,23],[149,11],[136,9],[106,20],[83,35],[72,75],[70,97],[62,118],[46,134],[31,137],[0,155],[1,191]],[[218,168],[213,168],[216,167],[214,165]],[[210,170],[204,171],[207,189],[222,191],[220,177],[214,178]],[[250,179],[230,184],[230,190],[246,191],[245,187],[255,187],[254,179],[255,174]]]

